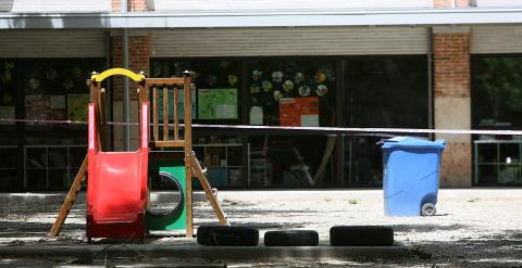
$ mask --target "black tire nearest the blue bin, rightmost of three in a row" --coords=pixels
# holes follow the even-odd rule
[[[390,246],[394,229],[385,226],[334,226],[330,243],[335,246]]]

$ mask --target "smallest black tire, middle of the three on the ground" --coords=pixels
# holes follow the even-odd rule
[[[313,230],[269,231],[264,233],[266,246],[316,246],[319,233]]]

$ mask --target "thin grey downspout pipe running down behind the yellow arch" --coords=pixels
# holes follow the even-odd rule
[[[121,0],[121,12],[127,13],[127,0]],[[123,67],[128,69],[128,29],[122,29],[122,63]],[[123,122],[125,122],[124,127],[124,151],[130,151],[130,95],[129,95],[129,86],[128,78],[123,76]]]

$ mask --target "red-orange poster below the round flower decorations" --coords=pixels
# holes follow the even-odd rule
[[[279,126],[319,127],[319,99],[315,97],[281,99]]]

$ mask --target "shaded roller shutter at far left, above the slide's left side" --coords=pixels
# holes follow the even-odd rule
[[[107,37],[94,30],[2,31],[0,58],[104,56]]]

